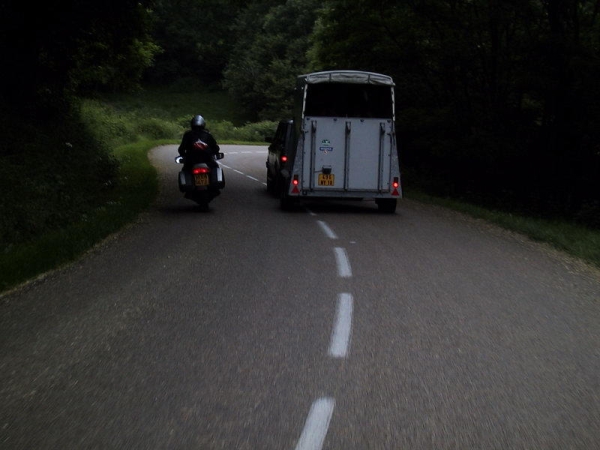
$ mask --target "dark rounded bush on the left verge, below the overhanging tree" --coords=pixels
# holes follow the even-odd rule
[[[35,128],[2,119],[0,251],[80,219],[109,195],[117,171],[76,116]]]

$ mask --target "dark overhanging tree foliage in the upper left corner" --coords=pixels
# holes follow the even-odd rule
[[[2,4],[1,99],[28,114],[68,107],[97,89],[135,85],[157,48],[148,36],[150,0],[59,0]]]

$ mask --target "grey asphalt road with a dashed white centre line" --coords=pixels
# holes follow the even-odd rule
[[[0,298],[2,449],[600,448],[600,274],[402,200],[156,205]]]

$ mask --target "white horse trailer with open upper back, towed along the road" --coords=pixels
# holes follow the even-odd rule
[[[392,78],[316,72],[298,77],[296,93],[282,207],[306,198],[374,199],[381,211],[395,212],[402,188]]]

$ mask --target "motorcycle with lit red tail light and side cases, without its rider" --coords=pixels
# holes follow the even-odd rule
[[[223,153],[217,153],[214,157],[215,163],[224,157]],[[185,158],[177,156],[175,162],[184,164]],[[179,172],[179,191],[185,194],[185,198],[198,203],[203,210],[208,209],[208,204],[221,194],[221,189],[224,187],[225,174],[218,163],[215,167],[206,163],[197,163],[191,170],[182,169]]]

